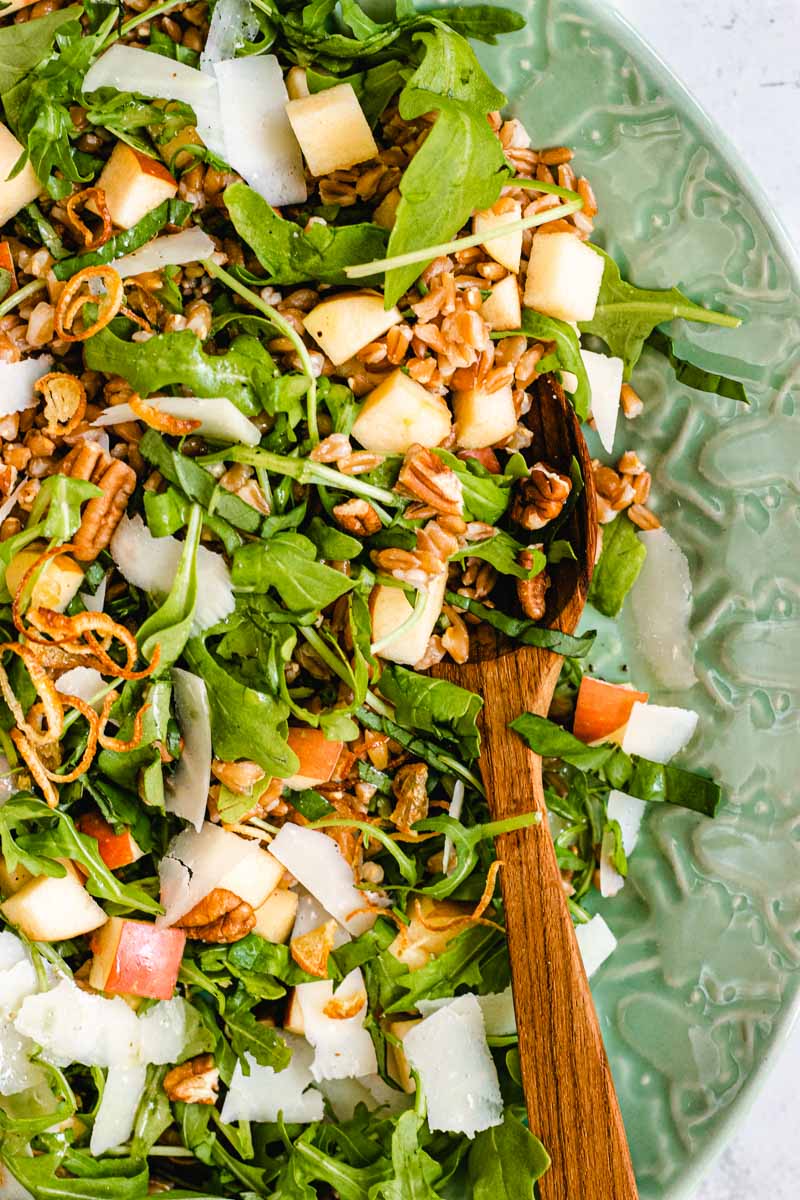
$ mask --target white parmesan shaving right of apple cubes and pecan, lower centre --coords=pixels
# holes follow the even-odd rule
[[[365,912],[368,898],[355,887],[353,870],[327,834],[318,829],[284,824],[270,844],[270,853],[283,863],[285,869],[354,937],[372,929],[375,914]]]

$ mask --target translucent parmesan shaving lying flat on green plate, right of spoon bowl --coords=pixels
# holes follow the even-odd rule
[[[691,688],[697,678],[694,638],[688,630],[688,560],[666,529],[646,529],[639,533],[639,541],[648,556],[631,592],[636,648],[660,684],[680,691]]]

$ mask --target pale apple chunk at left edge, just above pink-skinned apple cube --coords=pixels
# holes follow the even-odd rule
[[[6,920],[18,925],[31,942],[62,942],[91,934],[106,924],[106,913],[92,900],[77,872],[60,878],[38,875],[0,905]]]

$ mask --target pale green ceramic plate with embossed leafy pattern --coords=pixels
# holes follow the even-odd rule
[[[654,685],[624,623],[602,638],[654,700],[700,713],[684,761],[726,787],[716,821],[649,814],[628,883],[600,904],[620,944],[593,980],[642,1196],[688,1200],[798,1008],[800,280],[752,176],[627,24],[591,0],[516,6],[527,29],[482,58],[534,144],[576,148],[599,240],[634,282],[744,319],[675,334],[746,380],[750,409],[648,353],[644,414],[615,448],[642,452],[688,556],[698,683]]]

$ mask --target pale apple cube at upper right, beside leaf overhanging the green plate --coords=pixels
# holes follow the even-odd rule
[[[525,280],[525,307],[559,320],[591,320],[603,259],[571,233],[534,238]]]

